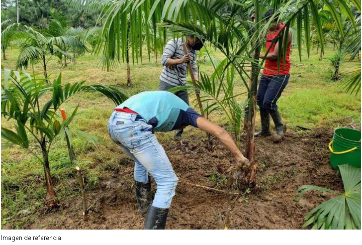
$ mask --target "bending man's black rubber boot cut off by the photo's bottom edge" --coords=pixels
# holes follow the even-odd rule
[[[169,209],[156,208],[150,205],[143,230],[165,230],[168,213]]]

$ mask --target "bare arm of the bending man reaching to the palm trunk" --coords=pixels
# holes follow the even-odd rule
[[[247,167],[250,166],[249,160],[240,152],[233,139],[224,128],[216,125],[215,123],[211,123],[203,117],[198,117],[196,119],[196,124],[198,128],[215,135],[223,143],[223,145],[226,146],[226,148],[233,154],[238,167],[242,168],[244,165]]]

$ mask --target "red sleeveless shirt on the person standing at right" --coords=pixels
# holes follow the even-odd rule
[[[279,28],[277,30],[267,32],[267,49],[271,46],[269,53],[274,51],[274,47],[276,43],[272,43],[272,40],[280,34],[281,29],[284,28],[284,24],[280,23]],[[282,41],[281,39],[279,40]],[[289,60],[289,53],[290,53],[290,44],[286,47],[286,58],[285,58],[285,69],[283,69],[283,54],[281,54],[280,61],[279,61],[279,73],[278,73],[278,61],[277,60],[265,60],[265,68],[263,70],[263,75],[267,77],[275,76],[275,75],[288,75],[290,70],[290,60]]]

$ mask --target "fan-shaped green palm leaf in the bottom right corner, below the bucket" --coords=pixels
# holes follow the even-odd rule
[[[312,229],[359,229],[361,230],[361,168],[339,165],[344,192],[334,191],[313,185],[298,188],[298,200],[310,190],[338,195],[331,198],[305,216],[303,228],[312,225]]]

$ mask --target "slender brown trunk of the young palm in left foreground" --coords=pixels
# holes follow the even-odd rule
[[[41,151],[43,153],[43,167],[44,167],[44,174],[45,174],[45,184],[47,187],[47,195],[45,198],[46,204],[48,207],[55,207],[58,204],[57,195],[55,194],[52,176],[50,175],[50,167],[49,167],[49,159],[48,159],[48,152],[46,149],[46,142],[45,138],[41,140]]]

